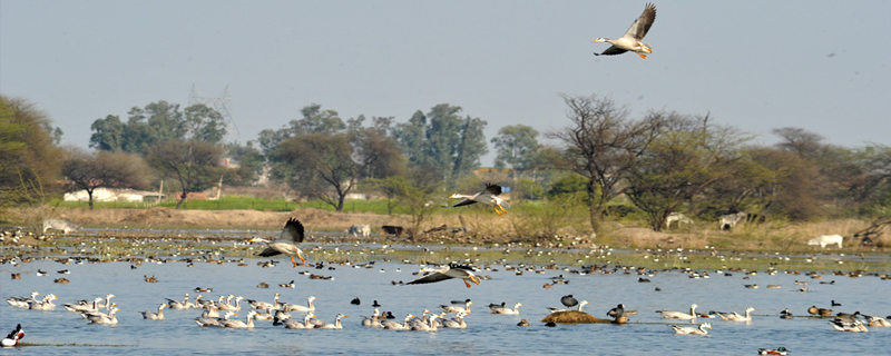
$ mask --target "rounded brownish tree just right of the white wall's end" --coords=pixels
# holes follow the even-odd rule
[[[209,188],[223,175],[219,161],[223,149],[199,140],[174,139],[158,142],[148,151],[148,162],[179,182],[183,191],[176,208],[183,207],[189,192]]]

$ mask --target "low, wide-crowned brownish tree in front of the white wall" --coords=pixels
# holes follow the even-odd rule
[[[62,164],[62,176],[72,189],[85,189],[92,209],[92,192],[97,188],[144,188],[150,170],[141,157],[126,152],[82,150],[71,151]]]

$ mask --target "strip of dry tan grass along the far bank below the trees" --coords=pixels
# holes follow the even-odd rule
[[[246,228],[277,229],[288,217],[301,219],[310,231],[343,231],[354,224],[368,224],[373,231],[382,225],[408,226],[408,216],[378,214],[332,212],[314,208],[295,209],[290,212],[256,210],[176,210],[168,208],[150,209],[101,209],[55,208],[12,208],[6,210],[4,219],[13,224],[39,229],[40,222],[48,218],[69,219],[87,227],[139,227],[139,228]],[[443,210],[433,214],[422,228],[446,225],[461,227],[462,217],[470,234],[452,234],[450,230],[430,234],[421,240],[443,240],[454,244],[466,243],[559,243],[567,237],[578,237],[579,247],[591,245],[618,248],[685,248],[704,249],[706,246],[721,250],[774,250],[774,251],[817,251],[819,246],[807,246],[806,240],[820,235],[839,234],[845,236],[846,251],[884,251],[891,246],[891,231],[874,243],[878,248],[860,247],[860,241],[850,238],[865,228],[870,221],[840,219],[817,222],[768,221],[765,224],[743,222],[733,230],[718,230],[717,224],[699,221],[670,230],[654,231],[640,221],[604,221],[596,238],[589,238],[591,230],[584,212],[561,215],[559,225],[549,225],[550,234],[542,230],[540,211],[512,209],[500,217],[491,209]],[[536,226],[538,224],[539,226]],[[539,229],[537,236],[522,231]],[[590,244],[590,245],[588,245]],[[828,247],[826,250],[836,250]]]

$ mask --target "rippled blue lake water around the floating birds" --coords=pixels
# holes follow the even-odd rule
[[[314,255],[319,258],[319,254]],[[891,315],[891,281],[877,277],[850,278],[823,275],[820,280],[835,280],[834,285],[819,284],[805,275],[758,271],[744,280],[743,273],[732,277],[711,271],[711,278],[692,279],[679,270],[660,271],[648,277],[652,283],[638,283],[636,274],[570,274],[567,270],[546,270],[544,274],[526,271],[518,276],[506,270],[505,265],[491,265],[499,271],[481,271],[491,279],[479,286],[466,288],[459,280],[446,280],[428,285],[392,286],[393,280],[409,281],[417,278],[412,271],[417,264],[385,263],[381,258],[373,268],[353,268],[349,265],[332,265],[335,269],[315,269],[298,266],[292,268],[288,259],[273,268],[261,268],[258,259],[246,259],[247,266],[234,263],[224,265],[195,263],[144,263],[137,269],[130,263],[70,264],[53,260],[36,260],[19,266],[0,265],[0,296],[28,296],[32,290],[59,297],[55,310],[38,312],[0,306],[0,333],[6,335],[17,323],[25,327],[23,342],[32,345],[19,349],[0,349],[0,354],[14,355],[66,355],[112,354],[128,355],[233,355],[233,354],[424,354],[424,355],[747,355],[757,348],[784,346],[793,355],[828,354],[887,354],[891,328],[870,328],[869,333],[834,332],[828,320],[807,317],[812,305],[830,307],[834,299],[843,304],[836,312],[860,310],[868,315]],[[309,259],[307,261],[317,261]],[[522,259],[508,263],[522,263]],[[571,268],[578,269],[578,266]],[[38,269],[50,271],[50,276],[38,277]],[[70,269],[70,275],[58,275],[56,270]],[[398,271],[401,269],[401,271]],[[300,271],[311,271],[334,277],[333,280],[310,279]],[[11,273],[21,273],[21,279],[10,279]],[[156,276],[158,283],[149,284],[144,275]],[[551,277],[564,275],[568,285],[542,288]],[[66,277],[70,284],[55,284],[53,279]],[[294,279],[296,288],[281,288],[280,283]],[[795,291],[795,280],[809,280],[811,290]],[[266,281],[268,289],[257,288]],[[758,289],[745,288],[744,284],[758,284]],[[767,289],[766,285],[781,285],[780,289]],[[315,315],[333,322],[339,313],[349,315],[343,319],[343,329],[285,329],[272,322],[257,322],[254,329],[202,328],[193,318],[200,310],[165,309],[165,320],[145,320],[139,312],[156,312],[165,298],[182,299],[185,293],[193,298],[195,287],[212,287],[213,293],[203,293],[206,299],[216,300],[221,295],[272,301],[275,293],[281,300],[304,304],[315,296]],[[656,287],[662,290],[656,291]],[[116,326],[88,325],[76,313],[66,312],[61,304],[78,299],[91,299],[108,293],[117,295],[121,312]],[[597,317],[619,303],[626,309],[638,310],[629,316],[628,325],[581,324],[546,327],[539,320],[548,315],[547,307],[561,307],[560,297],[571,294],[590,304],[585,310]],[[350,304],[359,297],[360,306]],[[438,310],[441,304],[470,298],[474,306],[467,317],[467,329],[439,329],[435,333],[391,332],[360,326],[362,316],[373,312],[372,301],[378,300],[381,310],[392,312],[400,319],[408,313],[420,315],[423,309]],[[523,304],[519,316],[488,314],[489,303],[505,301],[511,306]],[[689,324],[683,320],[666,320],[654,310],[668,309],[688,312],[691,304],[697,310],[726,310],[743,313],[755,307],[753,322],[734,323],[719,319],[713,324],[709,335],[674,335],[670,324]],[[245,304],[246,306],[246,304]],[[781,319],[779,313],[789,308],[794,319]],[[236,318],[243,319],[245,312]],[[294,313],[295,318],[302,314]],[[530,327],[519,327],[520,319]]]

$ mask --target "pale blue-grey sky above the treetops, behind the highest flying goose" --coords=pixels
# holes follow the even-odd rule
[[[244,144],[311,103],[407,121],[460,106],[541,132],[561,95],[702,116],[754,142],[799,127],[849,148],[891,145],[891,1],[662,1],[634,53],[593,56],[647,1],[0,0],[0,95],[35,103],[87,147],[90,125],[228,88]],[[492,165],[493,148],[482,159]]]

